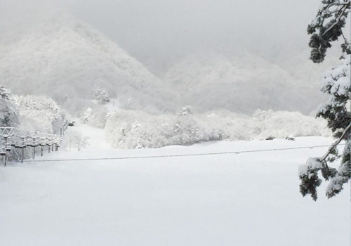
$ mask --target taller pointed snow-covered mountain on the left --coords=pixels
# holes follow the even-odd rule
[[[166,87],[144,65],[68,13],[37,22],[0,53],[0,81],[14,93],[48,94],[60,102],[91,99],[105,87],[130,108],[166,108],[169,101]]]

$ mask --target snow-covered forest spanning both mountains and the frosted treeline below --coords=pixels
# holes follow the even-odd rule
[[[115,148],[331,136],[313,115],[325,99],[316,89],[324,65],[300,53],[277,64],[249,51],[204,51],[156,77],[72,14],[43,18],[1,47],[0,79],[22,129],[52,133],[75,117],[106,127]],[[187,105],[193,113],[181,115]]]

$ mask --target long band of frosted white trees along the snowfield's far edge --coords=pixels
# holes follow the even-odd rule
[[[324,119],[300,112],[259,110],[254,117],[227,110],[192,115],[161,114],[117,109],[105,127],[114,148],[160,148],[206,141],[235,141],[287,136],[331,136]]]

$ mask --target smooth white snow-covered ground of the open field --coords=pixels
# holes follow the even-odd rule
[[[37,160],[176,155],[324,145],[331,139],[213,142],[117,150],[103,131],[78,152]],[[0,245],[350,245],[350,183],[317,202],[298,165],[326,148],[0,167]]]

